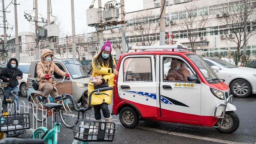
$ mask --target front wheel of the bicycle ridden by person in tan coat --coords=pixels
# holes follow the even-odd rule
[[[73,125],[76,124],[75,121],[79,119],[79,112],[74,109],[74,106],[77,107],[77,104],[73,104],[71,98],[66,98],[61,103],[63,108],[60,109],[60,113],[63,112],[65,119],[63,119],[62,114],[60,114],[60,119],[66,127],[73,128]]]

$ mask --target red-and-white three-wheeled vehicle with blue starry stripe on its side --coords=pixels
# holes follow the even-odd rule
[[[199,55],[186,49],[132,46],[128,50],[135,52],[120,55],[112,114],[119,115],[124,127],[134,128],[146,119],[213,126],[223,133],[237,130],[239,118],[228,85]]]

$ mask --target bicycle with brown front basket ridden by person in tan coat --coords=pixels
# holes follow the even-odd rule
[[[59,95],[63,94],[64,92],[72,94],[72,82],[63,82],[65,77],[66,76],[63,77],[62,81],[57,81],[56,78],[54,78],[54,76],[51,77],[57,83],[56,87]],[[44,107],[44,104],[41,101],[42,97],[43,97],[42,93],[37,93],[33,97],[31,96],[30,98],[30,101],[34,104],[34,107],[37,108],[37,110],[40,110],[42,112],[44,112],[45,110],[47,111],[46,117],[42,117],[42,119],[38,118],[38,116],[34,116],[34,118],[37,119],[37,121],[39,122],[45,121],[48,115],[52,114],[51,109],[47,109]],[[72,102],[71,99],[69,98],[66,98],[64,100],[59,100],[57,98],[55,99],[56,100],[54,102],[60,101],[60,103],[63,106],[63,109],[60,110],[60,119],[62,123],[68,128],[73,128],[75,120],[79,118],[79,113],[78,114],[74,113],[74,105],[78,107],[77,103]],[[47,101],[48,103],[50,102],[49,98],[47,98]],[[43,107],[40,104],[42,104]],[[66,118],[63,118],[63,115],[61,113],[65,114]]]

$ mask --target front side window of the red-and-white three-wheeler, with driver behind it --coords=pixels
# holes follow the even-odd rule
[[[163,58],[164,81],[188,81],[189,75],[194,75],[188,65],[179,58]]]

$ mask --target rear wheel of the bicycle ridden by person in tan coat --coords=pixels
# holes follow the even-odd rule
[[[37,109],[37,116],[34,116],[34,118],[38,121],[38,122],[42,122],[45,121],[46,118],[42,118],[42,113],[45,114],[45,109],[44,107],[41,107],[42,104],[41,103],[41,98],[42,98],[42,94],[36,94],[33,97],[33,100],[31,100],[31,102],[34,104],[34,107]],[[34,111],[34,109],[33,109]],[[41,116],[41,117],[40,117]],[[46,115],[46,117],[48,117],[48,115]]]

